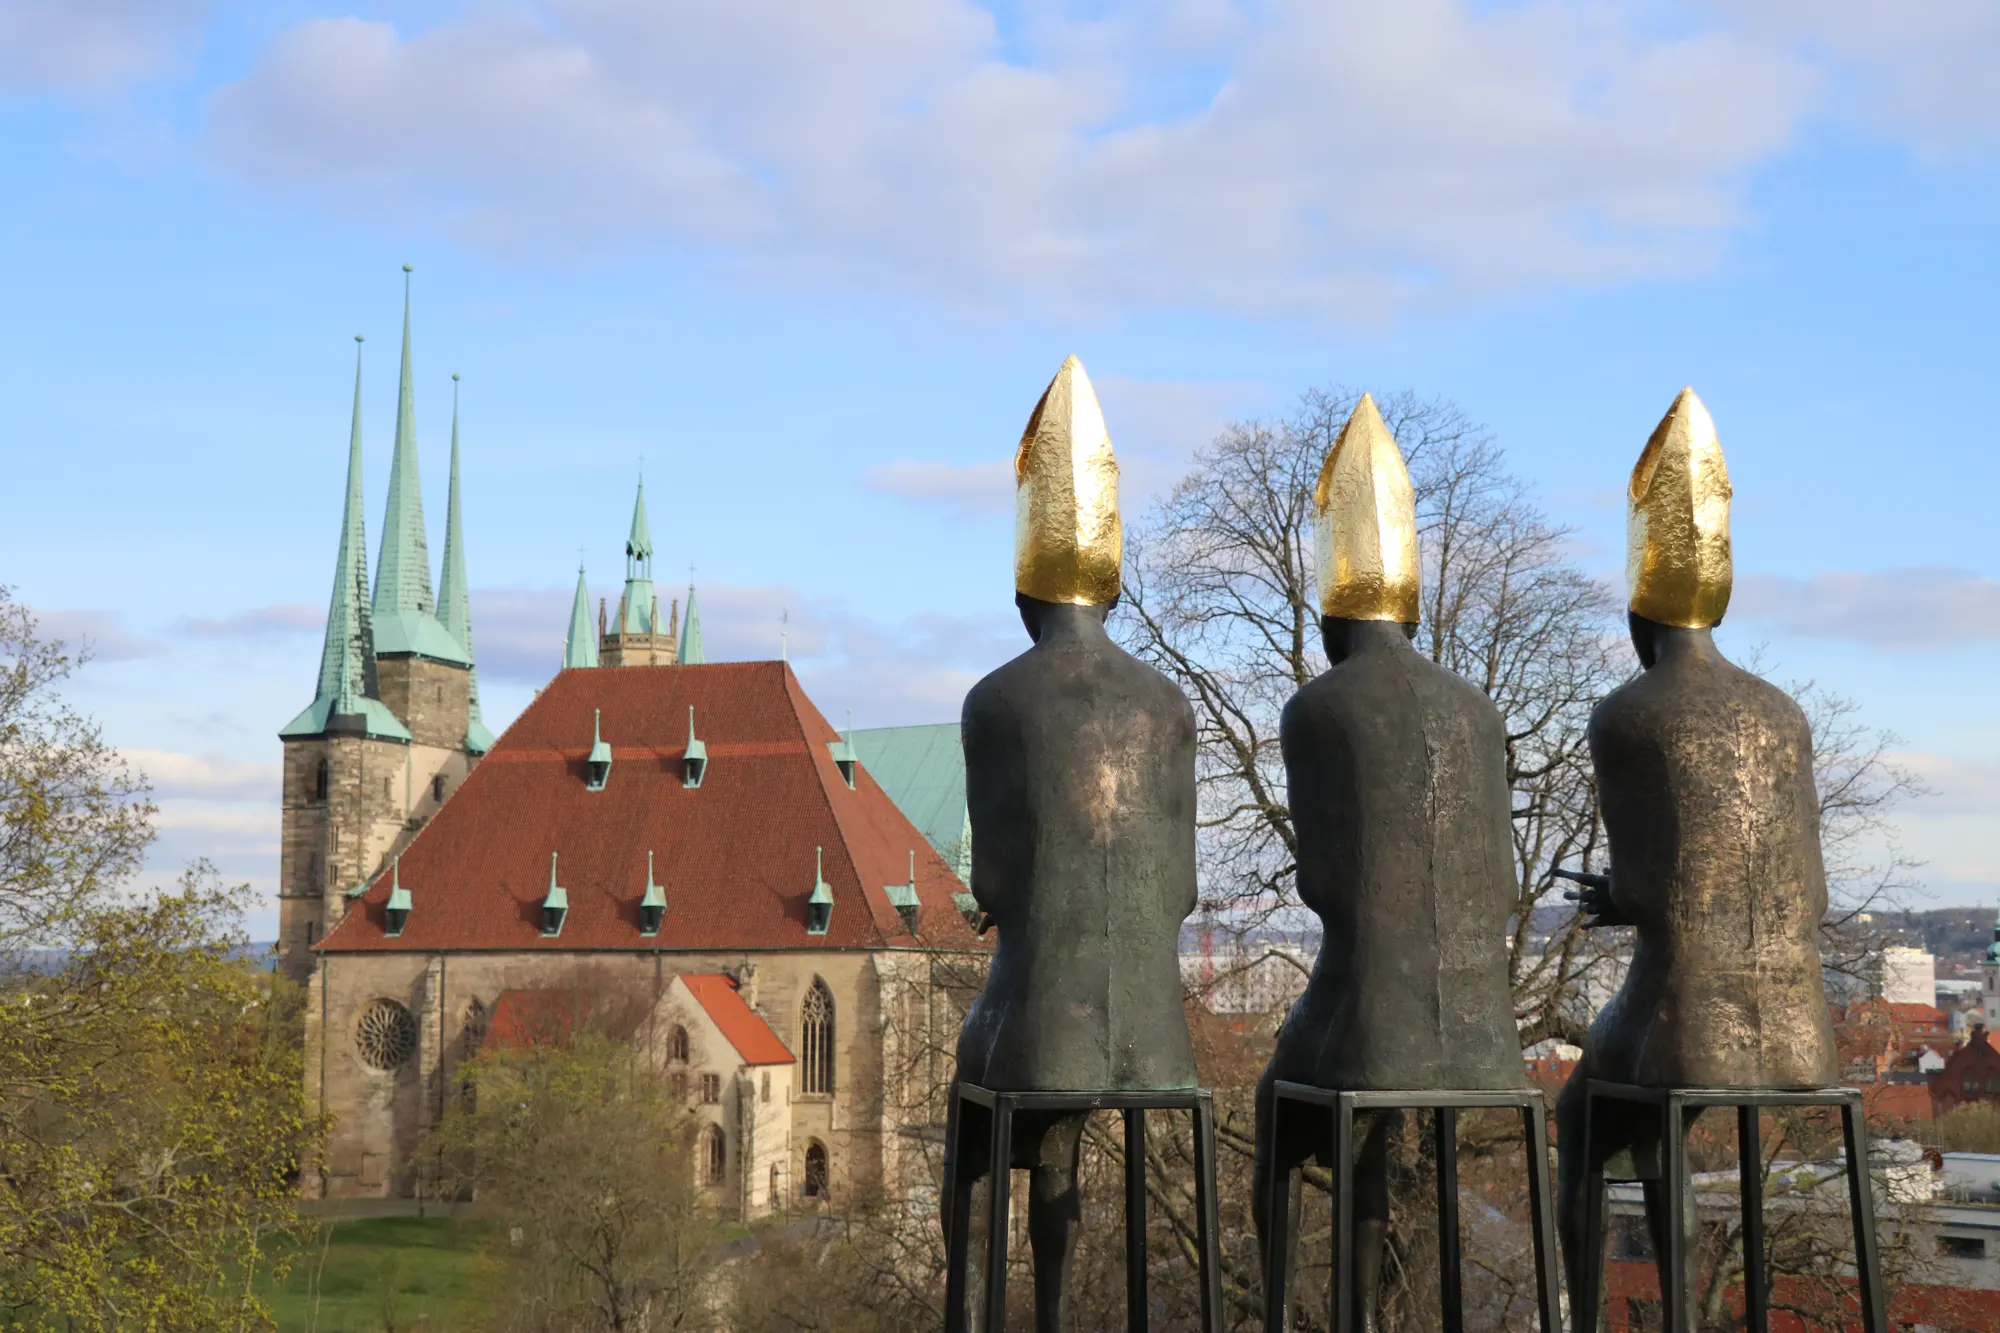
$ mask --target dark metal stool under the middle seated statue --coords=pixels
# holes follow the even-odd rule
[[[1444,1333],[1464,1329],[1464,1287],[1458,1243],[1458,1113],[1476,1107],[1514,1107],[1520,1111],[1528,1141],[1528,1211],[1534,1229],[1534,1291],[1542,1315],[1542,1333],[1560,1333],[1560,1287],[1556,1281],[1556,1211],[1548,1193],[1548,1121],[1538,1089],[1506,1091],[1408,1091],[1408,1093],[1338,1093],[1304,1083],[1278,1083],[1272,1099],[1270,1133],[1292,1115],[1332,1113],[1334,1119],[1334,1333],[1354,1327],[1354,1303],[1348,1283],[1354,1273],[1354,1113],[1356,1111],[1430,1111],[1438,1137],[1438,1295],[1444,1307]],[[1264,1329],[1284,1333],[1286,1279],[1292,1257],[1292,1173],[1282,1173],[1276,1157],[1266,1181],[1270,1227],[1264,1241]]]

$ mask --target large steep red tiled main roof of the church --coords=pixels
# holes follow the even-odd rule
[[[708,747],[682,785],[688,709]],[[612,747],[604,791],[584,787],[592,711]],[[848,791],[838,741],[784,662],[598,666],[560,673],[402,851],[410,917],[388,937],[388,875],[348,905],[318,949],[984,949],[952,903],[964,885],[866,767]],[[826,935],[806,933],[814,849],[834,893]],[[646,853],[666,889],[640,935]],[[540,931],[550,853],[570,911]],[[910,879],[918,935],[884,887]]]

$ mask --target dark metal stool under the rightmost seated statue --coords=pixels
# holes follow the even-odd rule
[[[1584,1273],[1578,1329],[1596,1333],[1600,1287],[1604,1281],[1604,1153],[1598,1117],[1608,1103],[1642,1103],[1660,1111],[1660,1185],[1664,1213],[1672,1221],[1662,1255],[1660,1309],[1670,1333],[1686,1327],[1688,1233],[1684,1189],[1688,1171],[1688,1111],[1700,1107],[1736,1109],[1738,1181],[1744,1211],[1744,1327],[1770,1333],[1770,1291],[1764,1271],[1764,1151],[1758,1133],[1760,1107],[1840,1107],[1840,1137],[1848,1153],[1848,1213],[1854,1219],[1854,1269],[1860,1279],[1864,1333],[1888,1333],[1888,1305],[1882,1293],[1882,1257],[1876,1249],[1874,1193],[1868,1183],[1868,1139],[1862,1133],[1862,1095],[1852,1087],[1824,1089],[1694,1089],[1634,1087],[1600,1083],[1584,1087]]]

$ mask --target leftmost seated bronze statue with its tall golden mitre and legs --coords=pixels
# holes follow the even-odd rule
[[[1000,943],[958,1037],[958,1079],[994,1091],[1194,1087],[1180,987],[1194,711],[1104,632],[1116,466],[1072,356],[1016,456],[1014,600],[1034,646],[972,687],[962,723],[972,895]],[[1042,1333],[1062,1329],[1082,1129],[1080,1113],[1014,1119]],[[964,1179],[992,1167],[984,1153],[966,1147]]]

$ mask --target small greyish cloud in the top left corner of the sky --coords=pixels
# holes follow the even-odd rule
[[[186,56],[208,0],[0,0],[0,92],[110,92]]]

